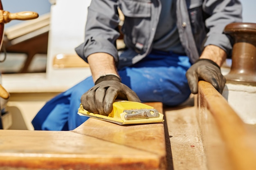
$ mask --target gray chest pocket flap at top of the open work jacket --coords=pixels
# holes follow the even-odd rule
[[[120,0],[119,7],[126,17],[150,17],[150,0]]]

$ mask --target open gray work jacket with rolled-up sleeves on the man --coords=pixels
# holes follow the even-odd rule
[[[192,63],[209,44],[231,53],[231,42],[223,30],[229,23],[242,22],[239,0],[173,1],[180,41]],[[121,31],[129,49],[124,58],[118,57],[115,46],[120,35],[118,7],[125,16]],[[86,62],[90,54],[104,52],[112,55],[121,66],[134,64],[152,50],[160,11],[160,0],[92,0],[88,7],[85,42],[75,49],[76,53]]]

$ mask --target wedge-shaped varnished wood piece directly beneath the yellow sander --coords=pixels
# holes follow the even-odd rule
[[[73,132],[97,137],[104,141],[135,148],[156,155],[165,155],[163,124],[142,124],[130,126],[117,126],[106,121],[89,119],[87,127],[76,128]],[[99,127],[104,127],[101,132]],[[151,154],[150,154],[151,155]]]

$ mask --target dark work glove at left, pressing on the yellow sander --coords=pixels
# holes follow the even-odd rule
[[[81,97],[83,108],[89,112],[108,115],[112,112],[115,99],[140,102],[139,97],[119,77],[106,75],[96,80],[95,86]]]

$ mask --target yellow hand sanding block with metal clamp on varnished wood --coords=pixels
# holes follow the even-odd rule
[[[82,104],[80,104],[78,114],[105,121],[110,121],[120,125],[148,124],[164,121],[164,115],[162,113],[159,113],[152,106],[126,100],[114,102],[113,110],[108,116],[88,112],[83,108]]]

